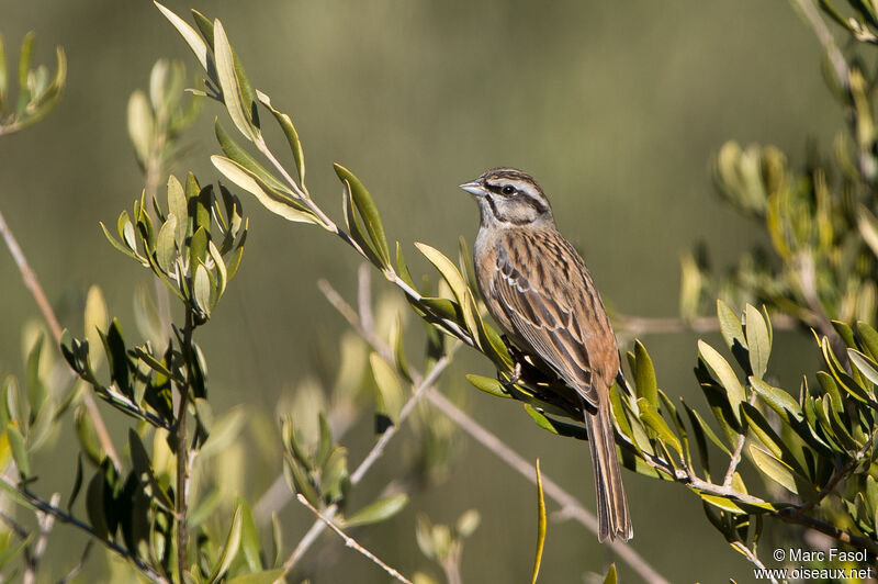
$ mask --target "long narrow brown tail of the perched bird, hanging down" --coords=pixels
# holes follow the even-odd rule
[[[610,541],[619,538],[629,540],[633,536],[631,514],[622,485],[622,473],[616,456],[610,404],[607,395],[598,395],[606,402],[598,404],[597,412],[585,411],[585,427],[592,447],[592,463],[595,468],[595,491],[597,492],[598,540]]]

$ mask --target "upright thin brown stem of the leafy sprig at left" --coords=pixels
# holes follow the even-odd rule
[[[187,525],[187,503],[189,498],[189,457],[187,456],[187,411],[189,406],[189,389],[192,383],[192,308],[185,308],[182,351],[187,363],[185,383],[178,384],[180,404],[177,411],[177,496],[175,497],[175,515],[177,519],[177,575],[180,583],[188,569],[189,529]]]

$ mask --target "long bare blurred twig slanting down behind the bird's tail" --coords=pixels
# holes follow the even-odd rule
[[[333,306],[335,306],[335,308],[345,317],[345,319],[348,321],[351,327],[353,327],[353,329],[357,330],[357,333],[359,333],[367,342],[369,342],[372,349],[374,349],[382,359],[389,363],[392,363],[393,360],[390,348],[380,339],[378,339],[370,330],[365,330],[362,327],[362,323],[357,315],[357,312],[347,302],[345,302],[345,299],[342,299],[341,295],[326,280],[318,281],[317,285],[320,288],[320,291],[324,293],[329,303],[333,304]],[[438,364],[439,363],[437,362],[437,367]],[[436,368],[434,368],[430,374],[432,374],[434,371],[436,371]],[[415,371],[413,371],[412,374],[415,374]],[[446,416],[460,426],[479,443],[491,450],[495,456],[497,456],[497,458],[506,462],[528,481],[536,484],[537,480],[533,476],[533,469],[531,468],[530,463],[518,452],[506,446],[503,440],[485,429],[475,419],[457,407],[441,393],[428,389],[426,391],[426,397],[431,404],[434,404],[434,406],[439,408],[440,412],[446,414]],[[413,400],[409,400],[409,403],[412,402]],[[406,405],[408,405],[408,403]],[[583,507],[573,495],[564,491],[558,483],[547,476],[545,473],[542,473],[542,485],[545,494],[555,503],[561,505],[561,512],[564,516],[574,518],[586,529],[597,535],[597,519],[592,513],[586,510],[585,507]],[[654,582],[656,584],[667,583],[667,580],[665,580],[657,571],[655,571],[655,569],[653,569],[649,562],[646,562],[646,560],[644,560],[630,546],[619,541],[609,543],[609,546],[614,552],[619,555],[619,558],[628,563],[628,565],[638,572],[638,574],[640,574],[645,581]]]

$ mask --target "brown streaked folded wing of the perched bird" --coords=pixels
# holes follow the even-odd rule
[[[498,246],[492,285],[500,310],[511,323],[513,333],[527,341],[583,398],[597,406],[588,355],[592,332],[587,328],[592,321],[588,306],[594,307],[595,300],[589,304],[585,297],[596,294],[590,278],[578,254],[560,237],[544,247],[534,245],[538,242],[532,239],[506,237]],[[561,252],[554,246],[567,249]],[[564,259],[569,260],[566,266]]]

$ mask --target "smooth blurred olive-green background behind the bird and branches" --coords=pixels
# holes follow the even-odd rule
[[[0,34],[8,55],[16,55],[25,32],[35,30],[35,61],[53,63],[54,45],[61,45],[69,75],[56,112],[0,138],[0,209],[63,325],[81,329],[86,290],[98,283],[111,312],[133,329],[133,289],[149,283],[147,274],[106,244],[98,221],[114,224],[143,184],[125,130],[128,96],[146,87],[157,58],[181,58],[190,71],[194,59],[151,2],[3,4]],[[339,161],[369,187],[389,237],[401,240],[409,258],[416,256],[414,240],[455,255],[458,236],[472,242],[477,227],[475,204],[457,184],[493,166],[516,166],[541,182],[605,301],[624,314],[676,314],[679,252],[695,242],[706,240],[720,267],[758,243],[756,228],[713,196],[710,159],[724,141],[774,143],[800,161],[807,138],[825,151],[842,124],[820,75],[818,43],[785,2],[167,5],[223,20],[250,80],[293,116],[311,192],[335,217],[341,190],[331,162]],[[217,114],[218,106],[205,104],[184,139],[191,148],[175,169],[178,176],[191,168],[202,182],[216,179],[207,157],[217,150],[211,127]],[[245,260],[200,341],[215,409],[249,404],[270,423],[279,396],[315,374],[317,348],[334,346],[346,328],[315,281],[326,278],[350,297],[358,262],[328,235],[241,199],[251,217]],[[414,262],[414,272],[426,269]],[[5,250],[0,278],[0,372],[21,374],[21,330],[38,313]],[[691,374],[695,338],[643,340],[660,385],[703,408]],[[795,383],[796,368],[815,350],[792,333],[778,334],[776,346],[777,372]],[[461,355],[446,386],[465,384],[464,372],[492,374],[486,362]],[[540,457],[543,472],[594,507],[584,443],[540,430],[506,401],[472,388],[463,393],[480,422],[526,458]],[[105,417],[122,436],[127,422]],[[345,442],[358,462],[372,443],[371,423]],[[536,537],[533,488],[477,445],[463,443],[446,483],[418,494],[406,513],[367,530],[361,541],[412,573],[429,565],[414,543],[414,510],[453,523],[477,507],[483,520],[464,548],[464,580],[524,581]],[[394,476],[399,451],[397,443],[385,454],[364,491]],[[59,460],[41,464],[58,463],[60,485],[74,468],[63,454],[60,449]],[[257,469],[252,483],[264,486],[280,460],[279,446],[277,465]],[[55,484],[49,471],[44,480]],[[748,564],[708,526],[696,497],[632,473],[626,484],[632,544],[672,582],[751,581]],[[299,508],[281,518],[288,544],[311,524]],[[336,551],[335,564],[315,583],[386,581],[362,558]],[[579,526],[550,523],[541,582],[582,582],[611,560]],[[619,569],[622,581],[638,580],[624,564]]]

